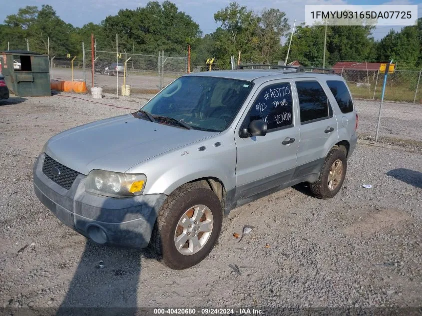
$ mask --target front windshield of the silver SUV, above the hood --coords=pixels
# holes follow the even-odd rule
[[[152,116],[179,120],[193,129],[221,132],[229,126],[251,88],[248,81],[184,76],[158,93],[142,110]]]

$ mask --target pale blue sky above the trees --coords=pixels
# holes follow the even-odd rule
[[[7,5],[1,5],[0,23],[9,14],[17,12],[19,7],[25,5],[41,6],[50,4],[57,15],[65,22],[74,26],[83,26],[88,22],[99,23],[107,15],[117,14],[119,9],[135,9],[145,6],[146,0],[0,0]],[[160,0],[162,2],[162,0]],[[227,6],[231,0],[171,0],[179,10],[189,14],[196,21],[204,34],[213,32],[217,25],[214,21],[214,13]],[[305,4],[418,4],[418,17],[422,16],[422,2],[419,0],[237,0],[238,3],[246,5],[249,9],[260,12],[264,8],[278,8],[286,12],[289,24],[293,25],[305,20]],[[373,36],[380,39],[385,36],[391,28],[400,30],[400,27],[379,26],[375,29]]]

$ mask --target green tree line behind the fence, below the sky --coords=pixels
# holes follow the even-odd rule
[[[241,51],[243,62],[277,63],[284,61],[291,26],[285,12],[268,8],[254,12],[231,2],[214,13],[216,30],[203,34],[198,23],[170,2],[150,1],[144,7],[121,9],[99,24],[89,22],[75,27],[63,21],[52,6],[25,6],[6,16],[0,24],[0,49],[30,50],[50,55],[82,54],[82,41],[90,47],[95,34],[97,50],[115,51],[116,33],[121,52],[185,53],[192,47],[192,66],[205,65],[215,57],[217,68],[227,69],[231,56]],[[422,18],[418,25],[391,29],[375,40],[374,26],[328,26],[326,65],[337,61],[387,61],[394,59],[401,69],[422,67]],[[325,26],[300,24],[292,36],[289,60],[306,66],[323,64]],[[48,43],[49,38],[49,43]],[[285,38],[284,43],[281,40]]]

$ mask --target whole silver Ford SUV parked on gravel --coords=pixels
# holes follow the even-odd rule
[[[94,242],[149,245],[166,266],[186,269],[210,253],[238,206],[300,182],[334,197],[357,124],[334,74],[186,75],[135,113],[51,137],[33,167],[34,189]]]

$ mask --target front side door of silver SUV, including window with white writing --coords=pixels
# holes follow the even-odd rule
[[[292,179],[299,146],[299,121],[292,82],[274,80],[257,90],[235,132],[237,147],[235,200],[242,200]],[[252,120],[268,124],[265,136],[240,137]]]

